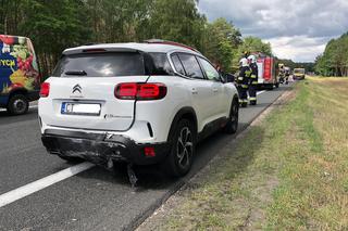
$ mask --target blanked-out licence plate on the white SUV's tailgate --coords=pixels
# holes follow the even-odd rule
[[[65,115],[87,115],[87,116],[99,116],[100,104],[92,103],[62,103],[61,113]]]

